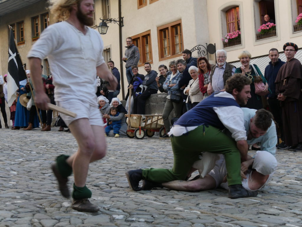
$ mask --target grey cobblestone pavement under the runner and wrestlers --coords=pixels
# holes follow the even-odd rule
[[[55,156],[77,150],[72,134],[57,130],[0,130],[0,227],[302,226],[302,153],[277,151],[278,170],[256,198],[228,199],[223,189],[134,192],[125,171],[173,165],[170,141],[158,136],[107,137],[107,155],[90,165],[87,180],[100,211],[78,212],[50,169]]]

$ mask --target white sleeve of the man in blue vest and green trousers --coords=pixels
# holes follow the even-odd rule
[[[243,111],[240,107],[213,107],[221,123],[232,133],[235,141],[246,140]]]

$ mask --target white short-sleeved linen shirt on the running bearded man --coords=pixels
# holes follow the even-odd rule
[[[27,58],[48,58],[57,101],[79,99],[97,107],[96,67],[104,63],[103,41],[97,31],[86,34],[66,21],[47,27]]]

